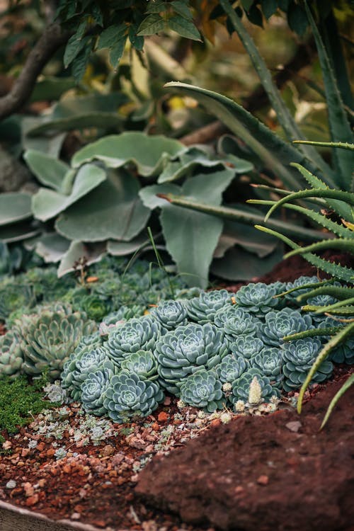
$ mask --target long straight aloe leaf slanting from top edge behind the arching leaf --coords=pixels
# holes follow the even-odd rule
[[[244,24],[241,22],[241,18],[236,15],[236,12],[229,4],[228,0],[220,0],[220,4],[224,9],[225,13],[227,13],[227,16],[229,16],[229,19],[232,25],[234,26],[236,33],[239,35],[239,38],[242,44],[244,45],[246,52],[249,54],[251,62],[253,63],[253,67],[256,69],[259,79],[261,79],[263,89],[268,94],[270,103],[272,104],[273,109],[275,110],[275,114],[277,115],[280,125],[282,126],[282,129],[285,132],[285,135],[287,135],[287,139],[291,142],[294,139],[302,138],[302,132],[299,130],[299,127],[297,127],[297,124],[292,118],[289,109],[282,100],[280,92],[278,91],[277,86],[275,86],[273,82],[273,78],[270,74],[270,71],[267,65],[265,64],[263,58],[261,57],[260,53],[258,52],[258,49],[254,44],[251,35],[249,35],[246,28],[244,27]],[[324,173],[324,175],[331,176],[331,168],[328,166],[328,164],[326,164],[324,159],[321,158],[321,156],[316,152],[315,149],[313,149],[312,147],[310,149],[309,147],[305,147],[302,148],[302,152],[304,152],[307,158],[312,161],[312,164],[317,166],[321,170],[321,172]]]

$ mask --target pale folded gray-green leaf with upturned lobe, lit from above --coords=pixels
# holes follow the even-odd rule
[[[84,164],[76,174],[72,193],[63,195],[53,190],[40,188],[32,198],[33,215],[47,221],[66,210],[74,202],[88,194],[105,180],[105,171],[94,164]]]

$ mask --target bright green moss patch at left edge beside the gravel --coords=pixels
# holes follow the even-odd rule
[[[17,433],[21,426],[33,420],[35,414],[53,406],[43,399],[45,382],[46,377],[34,380],[32,384],[24,376],[0,380],[0,432]]]

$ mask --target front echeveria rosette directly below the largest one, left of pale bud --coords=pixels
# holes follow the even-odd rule
[[[202,408],[208,413],[222,409],[226,401],[215,370],[199,369],[182,380],[180,390],[181,400],[185,404]]]

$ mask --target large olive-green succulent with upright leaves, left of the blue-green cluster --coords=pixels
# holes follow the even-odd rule
[[[42,310],[39,314],[23,316],[16,321],[14,329],[21,338],[23,372],[38,377],[47,370],[48,378],[55,380],[82,336],[93,333],[96,324],[79,312]]]

